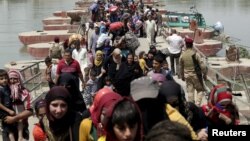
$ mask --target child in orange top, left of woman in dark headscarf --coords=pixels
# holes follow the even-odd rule
[[[46,114],[46,102],[44,99],[40,99],[35,103],[35,112],[37,118],[42,120],[43,116]],[[46,134],[41,130],[40,123],[36,123],[33,128],[33,137],[35,141],[46,141],[47,136]]]

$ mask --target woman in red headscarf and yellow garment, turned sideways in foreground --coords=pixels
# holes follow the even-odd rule
[[[121,96],[109,88],[102,88],[96,93],[89,109],[91,116],[83,119],[80,124],[79,141],[97,141],[106,135],[101,124],[103,110],[108,109],[118,99],[121,99]]]

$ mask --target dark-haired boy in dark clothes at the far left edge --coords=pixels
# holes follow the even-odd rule
[[[15,112],[11,104],[11,92],[9,88],[8,73],[0,69],[0,118],[2,120],[2,128],[9,135],[10,141],[15,141],[13,130],[16,128],[14,124],[6,124],[4,119],[6,116],[14,116]]]

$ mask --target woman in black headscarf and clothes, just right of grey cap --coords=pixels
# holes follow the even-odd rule
[[[206,117],[201,108],[192,102],[186,101],[181,85],[174,80],[166,81],[162,83],[159,94],[165,98],[167,107],[171,105],[180,112],[197,133],[199,139],[207,140],[207,133],[205,133],[207,127]]]

